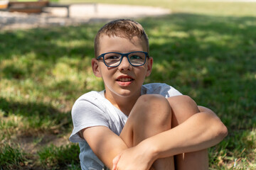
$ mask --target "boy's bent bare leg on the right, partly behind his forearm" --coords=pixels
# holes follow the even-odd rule
[[[188,96],[175,96],[168,98],[172,110],[172,127],[180,125],[191,115],[199,113],[196,103]],[[180,101],[186,103],[186,108],[180,107]],[[185,111],[184,111],[185,110]],[[179,154],[174,157],[175,166],[178,170],[195,169],[205,170],[208,169],[208,151],[204,149],[198,152],[191,152]]]

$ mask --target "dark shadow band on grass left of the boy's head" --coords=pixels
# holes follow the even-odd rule
[[[95,26],[36,28],[0,33],[1,59],[36,54],[36,58],[55,63],[63,56],[82,58],[93,54]],[[88,43],[87,43],[88,42]]]

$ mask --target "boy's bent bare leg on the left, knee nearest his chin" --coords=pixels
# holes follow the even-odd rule
[[[120,137],[128,147],[139,144],[142,140],[171,129],[171,108],[163,96],[143,95],[124,125]],[[174,158],[157,159],[153,164],[154,169],[174,169]]]

